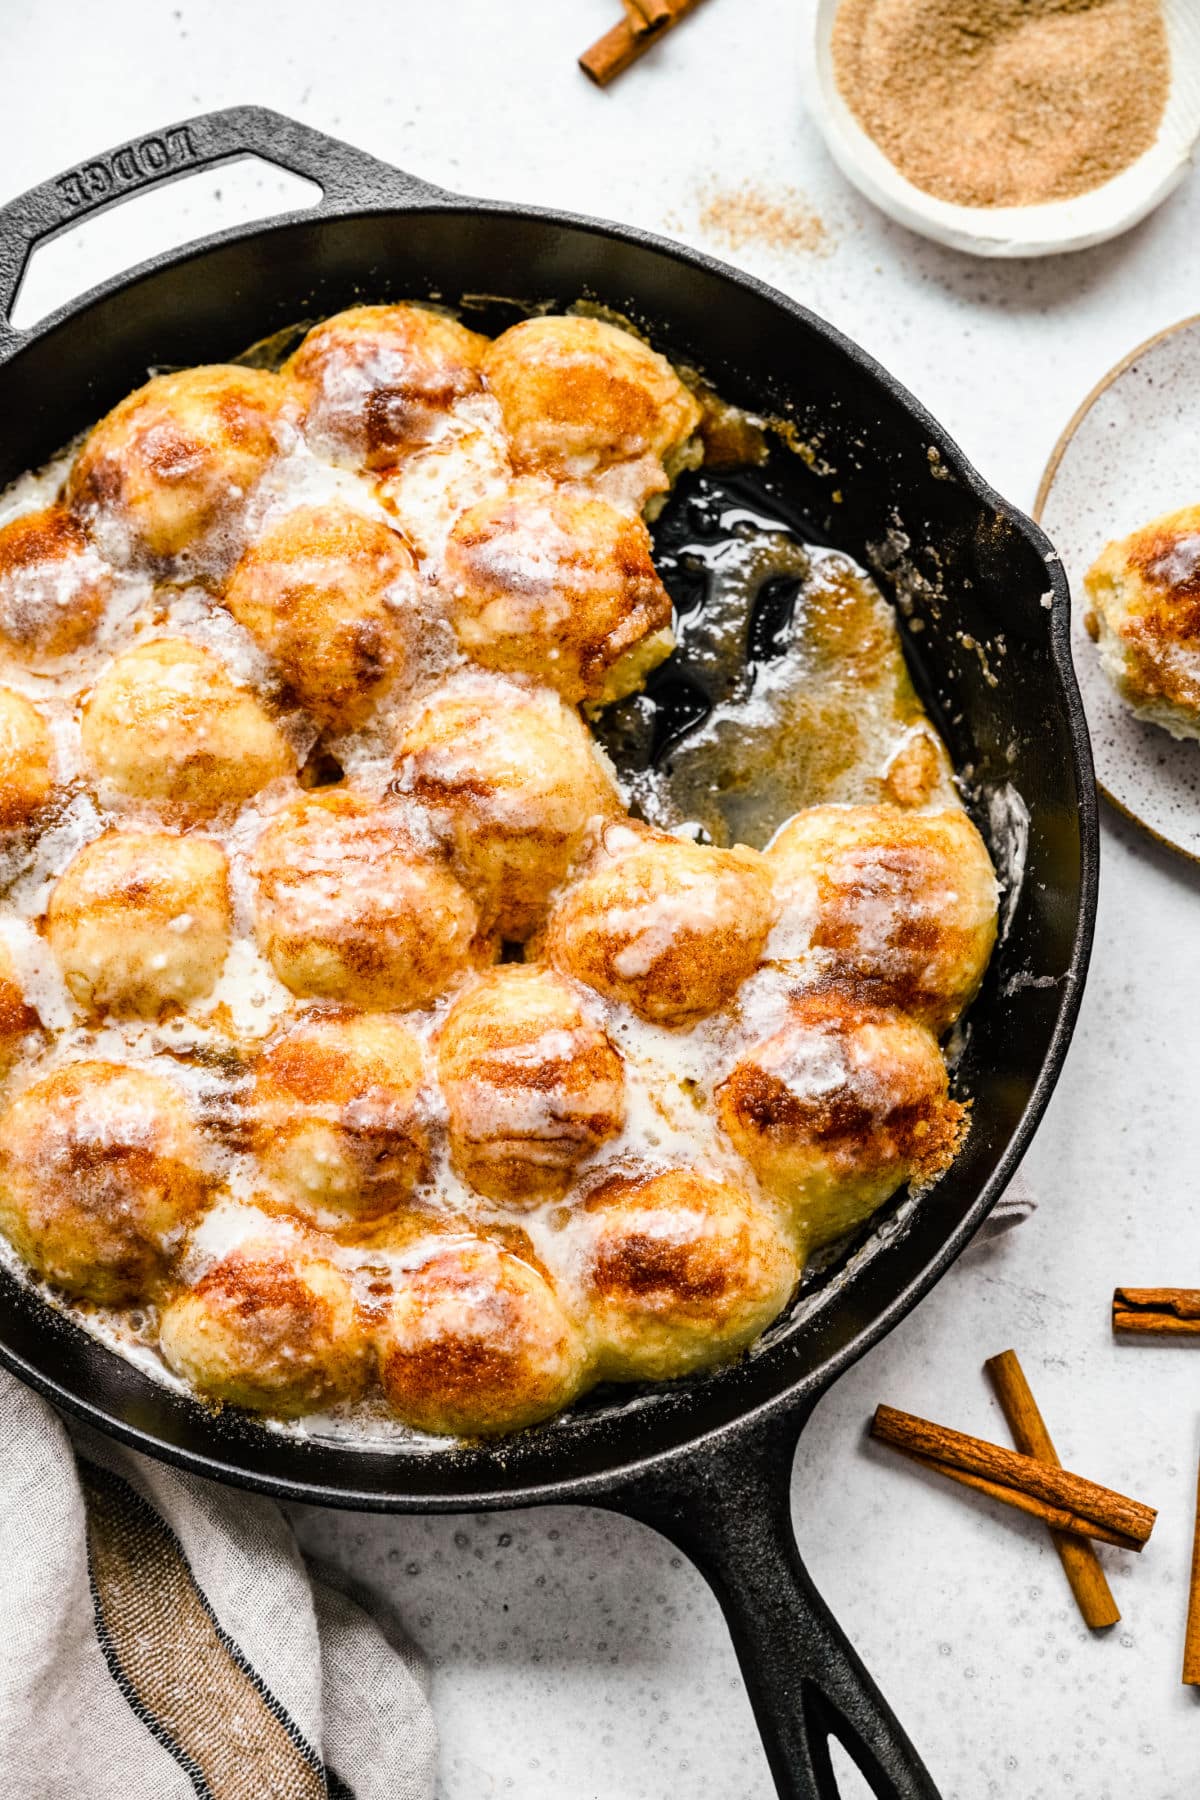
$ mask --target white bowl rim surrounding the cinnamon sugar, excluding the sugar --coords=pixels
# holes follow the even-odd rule
[[[1054,256],[1085,250],[1144,220],[1184,178],[1200,137],[1200,0],[1162,0],[1171,45],[1171,92],[1150,149],[1103,187],[1033,207],[959,207],[905,180],[867,137],[833,74],[838,0],[813,0],[815,43],[808,104],[833,160],[855,187],[910,230],[975,256]]]

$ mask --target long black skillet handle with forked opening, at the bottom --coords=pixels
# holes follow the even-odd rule
[[[801,1562],[790,1492],[806,1417],[743,1426],[604,1503],[669,1537],[716,1593],[781,1800],[838,1800],[829,1737],[876,1800],[939,1800]]]

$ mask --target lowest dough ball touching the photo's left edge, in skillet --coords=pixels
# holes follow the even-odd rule
[[[187,1103],[160,1075],[74,1062],[0,1120],[0,1229],[83,1300],[153,1294],[207,1193]]]

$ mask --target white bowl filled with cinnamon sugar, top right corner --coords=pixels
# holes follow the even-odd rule
[[[810,106],[928,238],[1045,256],[1142,220],[1200,133],[1195,0],[815,0]]]

